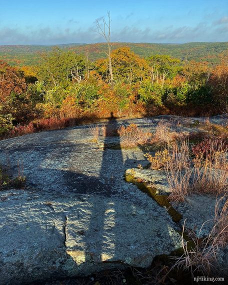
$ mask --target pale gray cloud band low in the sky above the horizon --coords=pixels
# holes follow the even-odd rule
[[[221,19],[220,19],[221,20]],[[154,27],[140,28],[138,26],[124,26],[120,30],[111,30],[112,41],[122,42],[189,42],[189,41],[225,41],[228,35],[228,25],[222,18],[221,26],[208,25],[205,22],[195,26],[174,27],[169,25],[163,29]],[[228,19],[227,19],[228,20]],[[65,28],[27,27],[26,30],[18,28],[0,28],[0,44],[61,44],[61,43],[94,43],[104,39],[97,34],[95,26],[87,29],[70,25]]]

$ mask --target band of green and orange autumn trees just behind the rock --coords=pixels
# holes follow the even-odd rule
[[[129,47],[111,52],[114,85],[106,59],[54,47],[36,66],[0,61],[0,135],[106,118],[157,114],[200,115],[227,108],[228,59],[184,62],[169,55],[143,58]],[[27,125],[27,126],[25,126]],[[31,127],[33,125],[33,127]],[[13,129],[13,130],[12,130]]]

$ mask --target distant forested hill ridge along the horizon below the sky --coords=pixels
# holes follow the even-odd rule
[[[73,49],[78,53],[88,52],[90,59],[105,57],[105,43],[70,43],[58,45],[63,49]],[[181,60],[205,60],[211,64],[218,62],[217,55],[228,50],[228,42],[188,42],[173,43],[113,43],[112,48],[129,46],[136,54],[146,57],[151,54],[168,54]],[[49,51],[53,45],[0,45],[0,59],[10,65],[36,65],[39,62],[39,52]]]

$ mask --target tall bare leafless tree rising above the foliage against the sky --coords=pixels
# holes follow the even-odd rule
[[[110,24],[111,24],[111,18],[110,18],[110,12],[107,12],[108,20],[106,21],[104,17],[101,17],[100,19],[96,19],[96,32],[100,34],[102,37],[105,38],[107,42],[108,52],[105,52],[107,54],[108,58],[108,69],[110,74],[110,83],[111,87],[113,88],[114,80],[113,80],[113,74],[112,74],[112,65],[111,65],[111,42],[110,42]]]

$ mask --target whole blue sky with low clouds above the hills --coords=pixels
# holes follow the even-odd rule
[[[0,0],[0,44],[228,41],[228,0]]]

